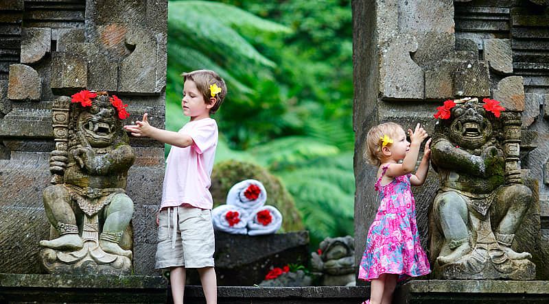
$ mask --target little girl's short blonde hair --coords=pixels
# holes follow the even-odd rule
[[[364,156],[369,161],[370,164],[379,166],[382,164],[384,155],[382,153],[382,138],[384,135],[396,139],[398,131],[402,129],[397,123],[382,123],[381,125],[376,125],[368,131],[366,135],[366,151]]]

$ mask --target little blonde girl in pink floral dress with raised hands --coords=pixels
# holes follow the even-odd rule
[[[410,185],[421,186],[429,169],[429,144],[415,175],[414,169],[419,146],[427,132],[417,124],[408,129],[410,142],[404,129],[396,123],[382,123],[370,129],[366,137],[366,156],[376,166],[379,191],[379,209],[366,240],[358,278],[371,281],[370,300],[363,304],[390,304],[397,278],[418,277],[430,273],[425,251],[419,242],[414,197]],[[401,162],[401,160],[404,160]]]

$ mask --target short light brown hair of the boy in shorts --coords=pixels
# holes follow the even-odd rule
[[[227,86],[225,85],[225,81],[218,75],[218,73],[210,70],[198,70],[189,73],[183,73],[181,74],[181,76],[183,76],[183,82],[187,81],[187,79],[194,81],[194,83],[196,84],[196,88],[198,88],[198,92],[202,94],[202,96],[204,97],[204,101],[207,104],[211,103],[210,86],[215,84],[218,86],[218,88],[221,88],[221,92],[215,94],[216,101],[215,105],[213,105],[213,107],[211,107],[210,109],[210,114],[215,113],[215,111],[219,109],[227,94]]]

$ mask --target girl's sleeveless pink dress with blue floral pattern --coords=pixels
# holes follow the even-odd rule
[[[375,182],[379,191],[379,209],[375,215],[362,255],[358,278],[366,281],[377,279],[383,273],[406,277],[419,277],[431,272],[429,260],[419,242],[415,201],[410,190],[410,175],[395,177],[381,185],[388,165],[383,166],[382,176]]]

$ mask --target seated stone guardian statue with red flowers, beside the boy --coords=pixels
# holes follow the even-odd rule
[[[47,273],[131,272],[133,202],[125,189],[135,153],[122,129],[126,106],[106,92],[81,91],[54,101],[54,177],[43,191],[54,229],[51,240],[40,241]]]

